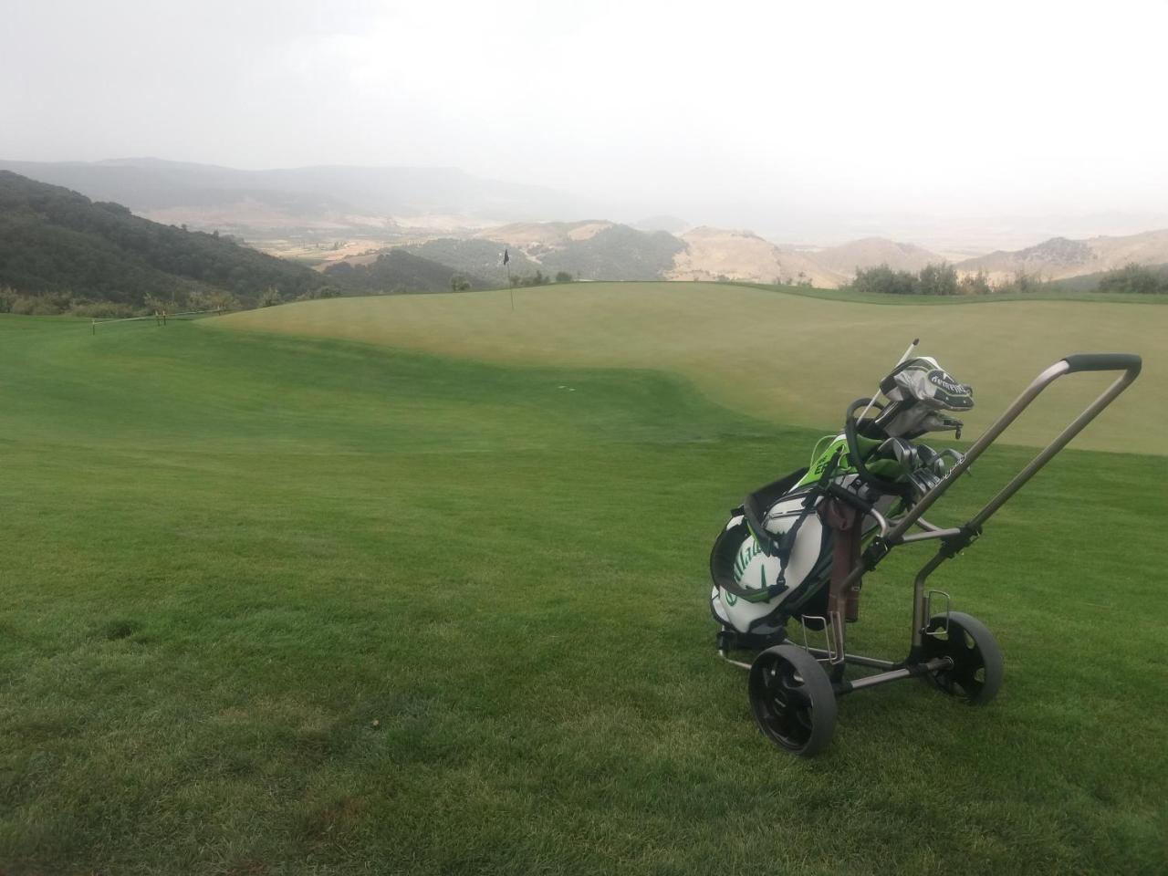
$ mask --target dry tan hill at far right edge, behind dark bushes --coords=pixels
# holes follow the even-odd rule
[[[1052,237],[1036,246],[1013,252],[999,250],[969,258],[957,263],[957,269],[965,273],[985,271],[990,280],[1008,279],[1016,273],[1063,279],[1111,271],[1129,263],[1168,263],[1168,230],[1145,231],[1126,237],[1089,237],[1082,241]]]

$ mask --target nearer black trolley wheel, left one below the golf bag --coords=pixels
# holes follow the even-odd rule
[[[767,648],[750,667],[750,708],[763,736],[800,757],[818,755],[835,730],[835,691],[798,645]]]

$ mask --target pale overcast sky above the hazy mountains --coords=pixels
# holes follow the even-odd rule
[[[1168,2],[0,0],[0,157],[663,208],[1168,210]]]

